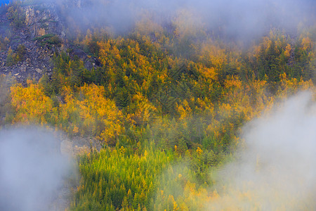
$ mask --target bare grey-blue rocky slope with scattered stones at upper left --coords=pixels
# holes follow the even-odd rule
[[[10,17],[12,6],[15,4],[2,6],[0,10],[0,75],[11,74],[24,85],[28,78],[39,80],[44,74],[51,76],[53,56],[61,51],[67,51],[70,56],[78,56],[84,60],[88,69],[98,63],[96,58],[88,57],[84,51],[68,43],[65,33],[67,25],[60,13],[60,4],[53,1],[49,4],[26,4],[22,1],[18,8],[24,17],[19,27],[15,27],[15,21],[18,20]],[[74,1],[72,6],[80,7],[81,1]],[[16,58],[19,46],[25,51]],[[8,60],[11,50],[15,56],[13,62]]]

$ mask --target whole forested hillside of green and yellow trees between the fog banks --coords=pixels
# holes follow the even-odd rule
[[[0,37],[6,68],[27,63],[29,47],[12,40],[32,4],[1,6],[11,30]],[[35,124],[102,144],[78,155],[68,210],[207,210],[227,191],[216,188],[215,170],[247,148],[244,125],[298,91],[315,94],[312,21],[251,40],[210,30],[185,9],[167,21],[143,11],[122,31],[68,21],[60,34],[32,38],[51,55],[43,60],[51,70],[22,84],[0,78],[1,127]]]

